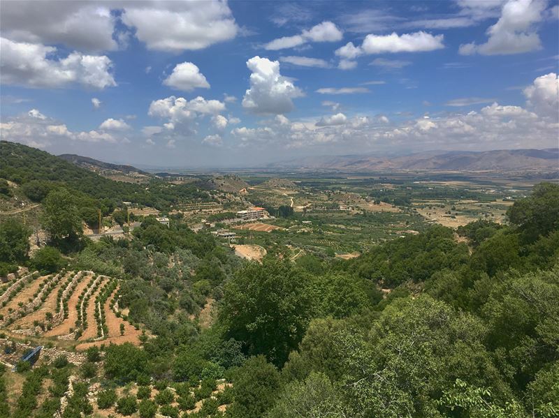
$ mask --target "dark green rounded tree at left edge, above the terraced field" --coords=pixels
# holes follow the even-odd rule
[[[22,264],[29,253],[31,230],[13,218],[0,223],[0,260]]]

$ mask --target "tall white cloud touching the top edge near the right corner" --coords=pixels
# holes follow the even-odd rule
[[[534,25],[540,22],[546,8],[543,0],[509,0],[502,6],[498,22],[487,30],[486,43],[460,45],[463,55],[521,54],[542,48]]]

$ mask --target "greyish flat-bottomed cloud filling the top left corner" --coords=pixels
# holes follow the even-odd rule
[[[110,3],[3,1],[3,36],[18,42],[62,44],[82,51],[116,50]]]

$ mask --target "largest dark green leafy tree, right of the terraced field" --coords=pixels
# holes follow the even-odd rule
[[[277,366],[303,338],[312,315],[308,275],[289,262],[249,264],[226,284],[219,322],[227,338],[245,343]]]

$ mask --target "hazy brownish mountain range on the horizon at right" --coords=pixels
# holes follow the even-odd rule
[[[272,163],[269,168],[301,170],[383,171],[556,171],[559,149],[425,152],[399,157],[312,156]]]

